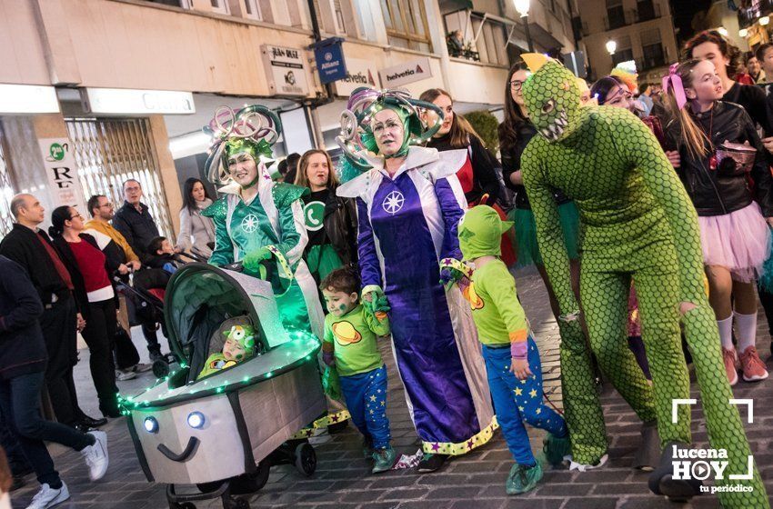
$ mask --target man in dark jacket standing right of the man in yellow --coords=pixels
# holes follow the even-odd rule
[[[147,245],[158,236],[158,226],[147,205],[141,202],[142,185],[133,178],[124,183],[124,199],[124,205],[113,216],[113,226],[144,263],[149,255]]]

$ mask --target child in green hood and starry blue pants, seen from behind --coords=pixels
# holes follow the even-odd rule
[[[477,205],[459,225],[459,247],[473,265],[463,294],[472,307],[497,421],[516,464],[507,477],[507,494],[534,489],[542,467],[531,452],[524,423],[547,430],[545,453],[551,464],[569,454],[564,418],[544,404],[539,352],[526,314],[518,302],[516,282],[499,258],[502,234],[512,227],[497,211]]]

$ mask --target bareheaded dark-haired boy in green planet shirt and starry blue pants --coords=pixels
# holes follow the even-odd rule
[[[389,334],[388,307],[383,300],[359,304],[359,277],[336,269],[319,285],[329,314],[325,317],[322,359],[336,366],[341,392],[352,421],[365,437],[366,455],[375,460],[373,474],[395,464],[386,418],[386,366],[376,336]],[[371,452],[372,449],[372,452]]]

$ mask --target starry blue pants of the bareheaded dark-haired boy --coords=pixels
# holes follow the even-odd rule
[[[340,378],[352,422],[374,449],[388,447],[392,436],[386,418],[386,366]]]

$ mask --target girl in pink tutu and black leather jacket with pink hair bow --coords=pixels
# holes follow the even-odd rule
[[[768,225],[773,226],[768,153],[747,111],[720,100],[722,83],[711,61],[672,65],[664,81],[673,115],[666,136],[675,148],[667,155],[698,211],[708,300],[717,315],[728,380],[738,383],[738,367],[747,382],[764,380],[768,371],[755,348],[754,282],[768,257]]]

